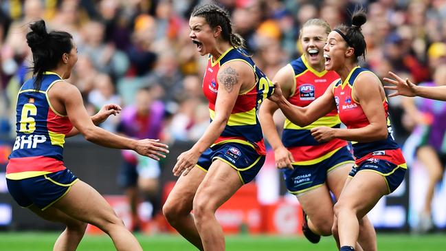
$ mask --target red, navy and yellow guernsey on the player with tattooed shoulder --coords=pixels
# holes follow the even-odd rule
[[[212,121],[215,116],[215,102],[219,90],[217,74],[221,66],[231,61],[243,61],[252,67],[256,83],[253,83],[252,89],[238,94],[226,127],[214,144],[226,142],[247,144],[253,146],[257,153],[265,155],[265,143],[257,111],[261,102],[270,96],[274,89],[267,76],[256,67],[241,48],[230,47],[219,58],[212,58],[211,55],[208,58],[208,66],[203,78],[203,92],[209,101],[210,119]]]

